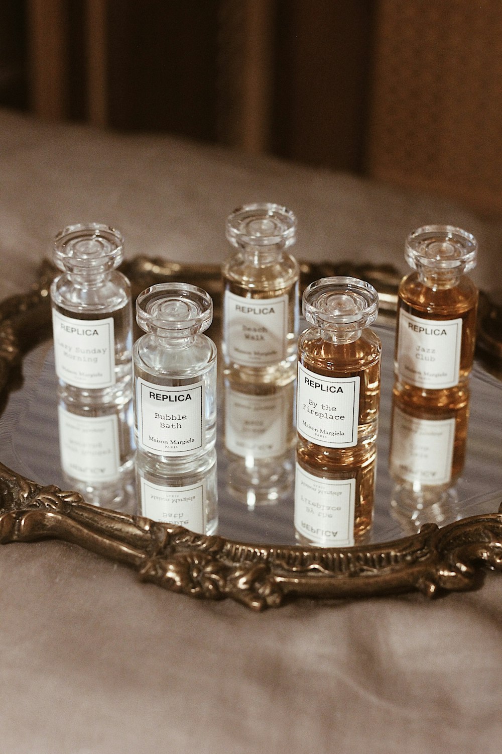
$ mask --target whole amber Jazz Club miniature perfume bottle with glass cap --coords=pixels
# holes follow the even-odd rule
[[[473,235],[451,225],[425,225],[406,239],[415,271],[399,287],[395,373],[410,402],[452,405],[467,382],[478,292],[464,273],[476,250]]]

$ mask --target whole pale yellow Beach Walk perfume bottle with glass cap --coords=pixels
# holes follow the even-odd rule
[[[223,267],[223,351],[234,380],[294,380],[300,268],[286,250],[296,230],[294,214],[277,204],[248,204],[227,219],[238,252]]]

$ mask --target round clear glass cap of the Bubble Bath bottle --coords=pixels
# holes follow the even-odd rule
[[[213,318],[211,296],[188,283],[160,283],[136,299],[136,320],[147,333],[183,337],[203,333]]]

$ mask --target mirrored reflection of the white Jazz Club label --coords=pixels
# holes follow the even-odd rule
[[[455,418],[419,419],[397,406],[392,418],[391,472],[420,484],[446,484],[452,478]]]

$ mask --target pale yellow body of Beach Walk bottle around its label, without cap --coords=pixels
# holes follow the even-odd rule
[[[224,321],[222,350],[226,372],[234,382],[275,382],[286,385],[296,377],[298,337],[298,277],[297,261],[287,254],[269,251],[253,254],[239,253],[223,268],[224,290],[244,300],[272,299],[287,296],[287,316],[284,335],[284,358],[277,363],[245,366],[230,360],[227,343],[227,323]]]

